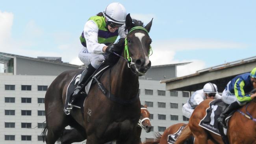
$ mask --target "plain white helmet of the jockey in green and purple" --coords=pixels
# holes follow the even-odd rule
[[[124,6],[119,2],[113,2],[109,4],[105,11],[103,11],[103,15],[109,22],[125,24],[126,10]]]

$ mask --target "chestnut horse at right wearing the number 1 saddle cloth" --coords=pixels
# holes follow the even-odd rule
[[[204,118],[206,109],[212,99],[206,99],[201,102],[196,108],[191,118],[189,119],[186,131],[191,130],[195,137],[195,144],[206,144],[208,139],[215,143],[224,144],[221,136],[211,133],[210,131],[198,126],[200,120]],[[239,109],[243,114],[236,111],[228,121],[227,137],[230,144],[256,144],[256,100],[255,98]],[[184,129],[184,130],[185,130]],[[184,131],[183,130],[183,131]],[[188,133],[182,133],[178,137],[176,144],[183,144],[188,137]]]

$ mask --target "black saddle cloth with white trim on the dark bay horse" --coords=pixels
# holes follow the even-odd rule
[[[108,67],[109,66],[101,65],[95,71],[96,74],[94,74],[94,76],[95,77],[100,76],[100,74],[102,74],[102,72],[104,70],[106,70]],[[74,76],[74,78],[70,81],[70,83],[69,83],[69,85],[67,87],[66,100],[65,100],[65,105],[64,105],[64,113],[67,114],[67,115],[70,114],[70,110],[67,110],[67,106],[68,106],[68,104],[69,104],[69,102],[71,100],[71,96],[72,96],[72,94],[74,92],[74,89],[76,88],[76,85],[78,85],[78,83],[79,83],[79,80],[81,78],[81,74],[82,74],[82,71],[79,72],[78,74],[76,74],[76,76]],[[83,107],[84,106],[83,103],[85,101],[85,98],[86,98],[86,96],[87,96],[87,94],[89,92],[89,89],[90,89],[92,81],[93,81],[93,79],[88,79],[88,80],[89,80],[89,82],[87,83],[87,85],[85,87],[83,87],[85,89],[86,93],[83,93],[84,96],[78,97],[79,100],[77,100],[76,105],[79,106],[79,107]],[[81,109],[81,110],[83,110],[83,109]]]

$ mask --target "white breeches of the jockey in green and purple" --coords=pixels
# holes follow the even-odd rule
[[[94,68],[98,68],[102,61],[105,60],[106,54],[89,53],[87,48],[83,47],[79,52],[78,57],[85,65],[89,65],[91,63]]]

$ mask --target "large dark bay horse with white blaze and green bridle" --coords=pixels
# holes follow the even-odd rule
[[[113,140],[117,144],[139,143],[135,133],[141,107],[138,76],[145,74],[151,66],[148,57],[151,25],[152,20],[144,27],[142,22],[132,20],[130,14],[126,16],[129,32],[119,46],[122,58],[99,78],[110,93],[109,97],[97,83],[91,85],[84,102],[84,113],[80,109],[72,109],[69,115],[63,112],[67,86],[80,70],[63,72],[52,82],[45,95],[46,127],[43,134],[47,133],[47,144],[54,144],[68,125],[86,135],[87,144]]]

